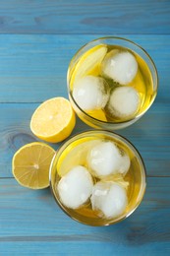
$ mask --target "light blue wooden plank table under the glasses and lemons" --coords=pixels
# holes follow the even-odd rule
[[[35,141],[30,116],[43,100],[66,96],[70,59],[85,42],[119,35],[148,51],[159,92],[142,119],[118,131],[139,149],[147,189],[138,210],[106,227],[76,223],[49,189],[13,178],[11,160]],[[80,120],[74,134],[89,129]],[[170,1],[0,1],[0,255],[170,255]],[[53,146],[57,149],[58,145]]]

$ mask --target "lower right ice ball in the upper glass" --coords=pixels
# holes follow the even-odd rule
[[[109,99],[108,110],[117,117],[128,117],[139,109],[140,96],[132,87],[116,88]]]

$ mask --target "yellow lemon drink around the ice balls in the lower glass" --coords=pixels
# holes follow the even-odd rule
[[[102,177],[94,175],[88,165],[87,156],[90,149],[97,145],[98,141],[112,142],[120,152],[124,152],[129,156],[131,161],[130,168],[125,175],[121,173]],[[78,209],[71,209],[63,205],[57,186],[61,178],[66,176],[77,165],[83,165],[88,169],[94,185],[98,181],[114,181],[126,189],[128,204],[120,216],[111,219],[105,218],[100,211],[92,209],[90,198]],[[104,225],[119,222],[129,216],[142,200],[145,189],[145,173],[142,160],[131,144],[112,133],[94,131],[78,135],[76,139],[72,139],[71,142],[67,143],[66,147],[59,151],[51,167],[51,185],[55,198],[69,216],[84,224]]]

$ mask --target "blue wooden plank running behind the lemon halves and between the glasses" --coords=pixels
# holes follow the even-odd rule
[[[0,177],[11,177],[11,160],[23,145],[35,141],[29,130],[29,120],[37,103],[0,104]],[[140,151],[148,175],[170,175],[170,105],[154,104],[151,109],[132,126],[116,131],[129,139]],[[73,134],[87,127],[80,119]],[[55,149],[60,144],[53,145]]]

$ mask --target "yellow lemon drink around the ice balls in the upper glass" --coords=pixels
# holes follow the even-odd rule
[[[105,48],[105,52],[101,48]],[[95,77],[103,78],[109,85],[109,90],[112,92],[117,87],[122,87],[119,83],[116,83],[114,80],[109,79],[107,76],[103,75],[102,72],[102,61],[104,57],[109,54],[112,50],[118,50],[119,52],[129,51],[134,55],[138,62],[138,72],[128,87],[132,87],[137,90],[140,96],[140,105],[138,110],[131,116],[128,117],[118,117],[110,114],[108,111],[108,105],[103,109],[91,109],[86,111],[86,113],[98,120],[105,122],[123,122],[130,120],[134,117],[140,116],[153,101],[155,97],[155,90],[153,89],[153,81],[151,73],[145,61],[142,57],[136,52],[118,45],[97,45],[89,50],[87,50],[73,65],[69,72],[69,84],[71,94],[73,93],[75,82],[78,79],[84,78],[85,76],[91,75]],[[84,109],[83,109],[84,110]],[[83,118],[84,119],[84,118]]]

